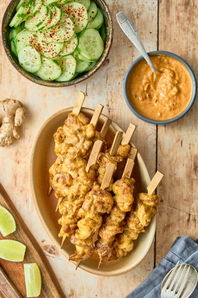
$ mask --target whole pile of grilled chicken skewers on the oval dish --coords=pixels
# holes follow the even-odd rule
[[[126,256],[133,240],[145,232],[159,205],[153,192],[163,174],[157,171],[148,193],[134,199],[131,174],[137,149],[129,142],[136,127],[131,123],[123,139],[118,131],[110,146],[105,136],[111,120],[107,118],[102,130],[96,131],[103,106],[96,107],[89,121],[80,113],[84,98],[80,92],[73,111],[54,134],[57,159],[49,169],[49,193],[53,189],[58,199],[61,248],[69,237],[76,247],[69,260],[77,266],[96,251],[99,269],[103,260]],[[118,180],[117,170],[123,170]]]

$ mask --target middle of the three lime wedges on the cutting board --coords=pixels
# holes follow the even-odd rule
[[[16,240],[0,240],[0,258],[12,262],[21,262],[24,259],[26,246]]]

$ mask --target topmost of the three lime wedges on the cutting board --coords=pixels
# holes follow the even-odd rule
[[[5,237],[16,231],[16,223],[12,214],[0,205],[0,232]]]

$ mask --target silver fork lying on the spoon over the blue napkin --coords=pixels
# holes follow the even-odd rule
[[[179,298],[180,297],[184,289],[186,279],[190,270],[190,266],[186,264],[183,270],[181,271],[182,264],[183,263],[179,265],[179,261],[178,261],[178,263],[173,268],[164,287],[161,290],[161,298],[173,298],[173,297]],[[178,268],[178,271],[175,272],[177,268]]]

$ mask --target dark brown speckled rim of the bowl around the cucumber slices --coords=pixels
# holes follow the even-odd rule
[[[16,13],[15,8],[19,0],[11,0],[11,2],[9,3],[4,13],[1,30],[2,30],[2,40],[3,40],[4,50],[6,52],[6,55],[9,61],[12,63],[15,69],[17,69],[18,72],[20,72],[20,74],[26,77],[28,80],[34,83],[37,83],[39,85],[48,86],[48,87],[71,86],[86,80],[88,77],[91,77],[91,75],[93,75],[106,60],[109,54],[111,44],[112,44],[112,39],[113,39],[113,20],[112,20],[110,10],[104,0],[94,0],[94,1],[96,2],[97,7],[99,7],[102,10],[105,24],[107,27],[107,38],[106,38],[106,44],[105,44],[104,53],[102,54],[102,57],[99,59],[98,63],[96,63],[96,65],[89,72],[84,72],[82,74],[79,74],[77,77],[75,77],[75,79],[69,82],[56,82],[56,81],[45,82],[41,80],[39,77],[31,74],[30,72],[26,72],[24,69],[22,69],[19,66],[18,60],[12,55],[10,42],[9,42],[9,29],[10,29],[9,23],[12,20],[13,15]]]

